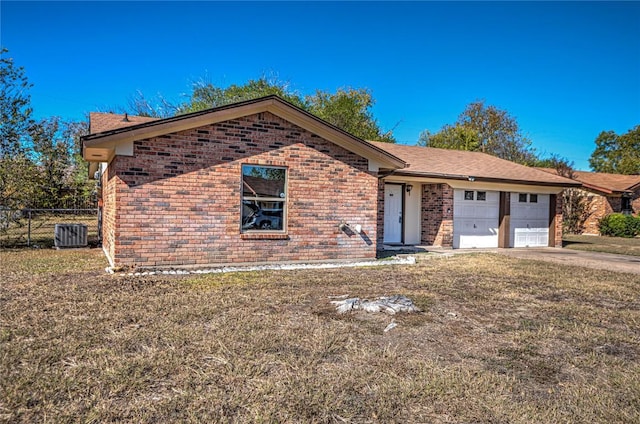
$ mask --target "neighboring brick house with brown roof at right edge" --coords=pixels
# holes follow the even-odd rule
[[[543,170],[557,174],[554,169]],[[572,178],[582,183],[581,190],[589,202],[583,234],[599,235],[600,220],[611,213],[640,213],[640,175],[572,171]]]

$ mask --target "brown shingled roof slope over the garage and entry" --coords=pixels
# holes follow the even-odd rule
[[[480,152],[371,142],[407,162],[394,175],[508,182],[559,187],[579,186],[569,178],[543,172]]]

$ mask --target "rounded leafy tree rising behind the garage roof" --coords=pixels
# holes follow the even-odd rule
[[[480,151],[513,162],[531,165],[536,161],[531,141],[520,131],[514,117],[484,100],[470,103],[453,125],[432,134],[423,131],[419,145]]]

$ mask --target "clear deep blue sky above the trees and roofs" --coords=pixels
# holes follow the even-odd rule
[[[585,170],[601,131],[640,124],[640,2],[2,1],[0,14],[38,117],[275,74],[303,94],[369,88],[405,144],[485,99]]]

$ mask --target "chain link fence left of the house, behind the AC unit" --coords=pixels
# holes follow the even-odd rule
[[[85,224],[89,245],[98,245],[98,209],[2,209],[0,248],[52,247],[56,224]]]

